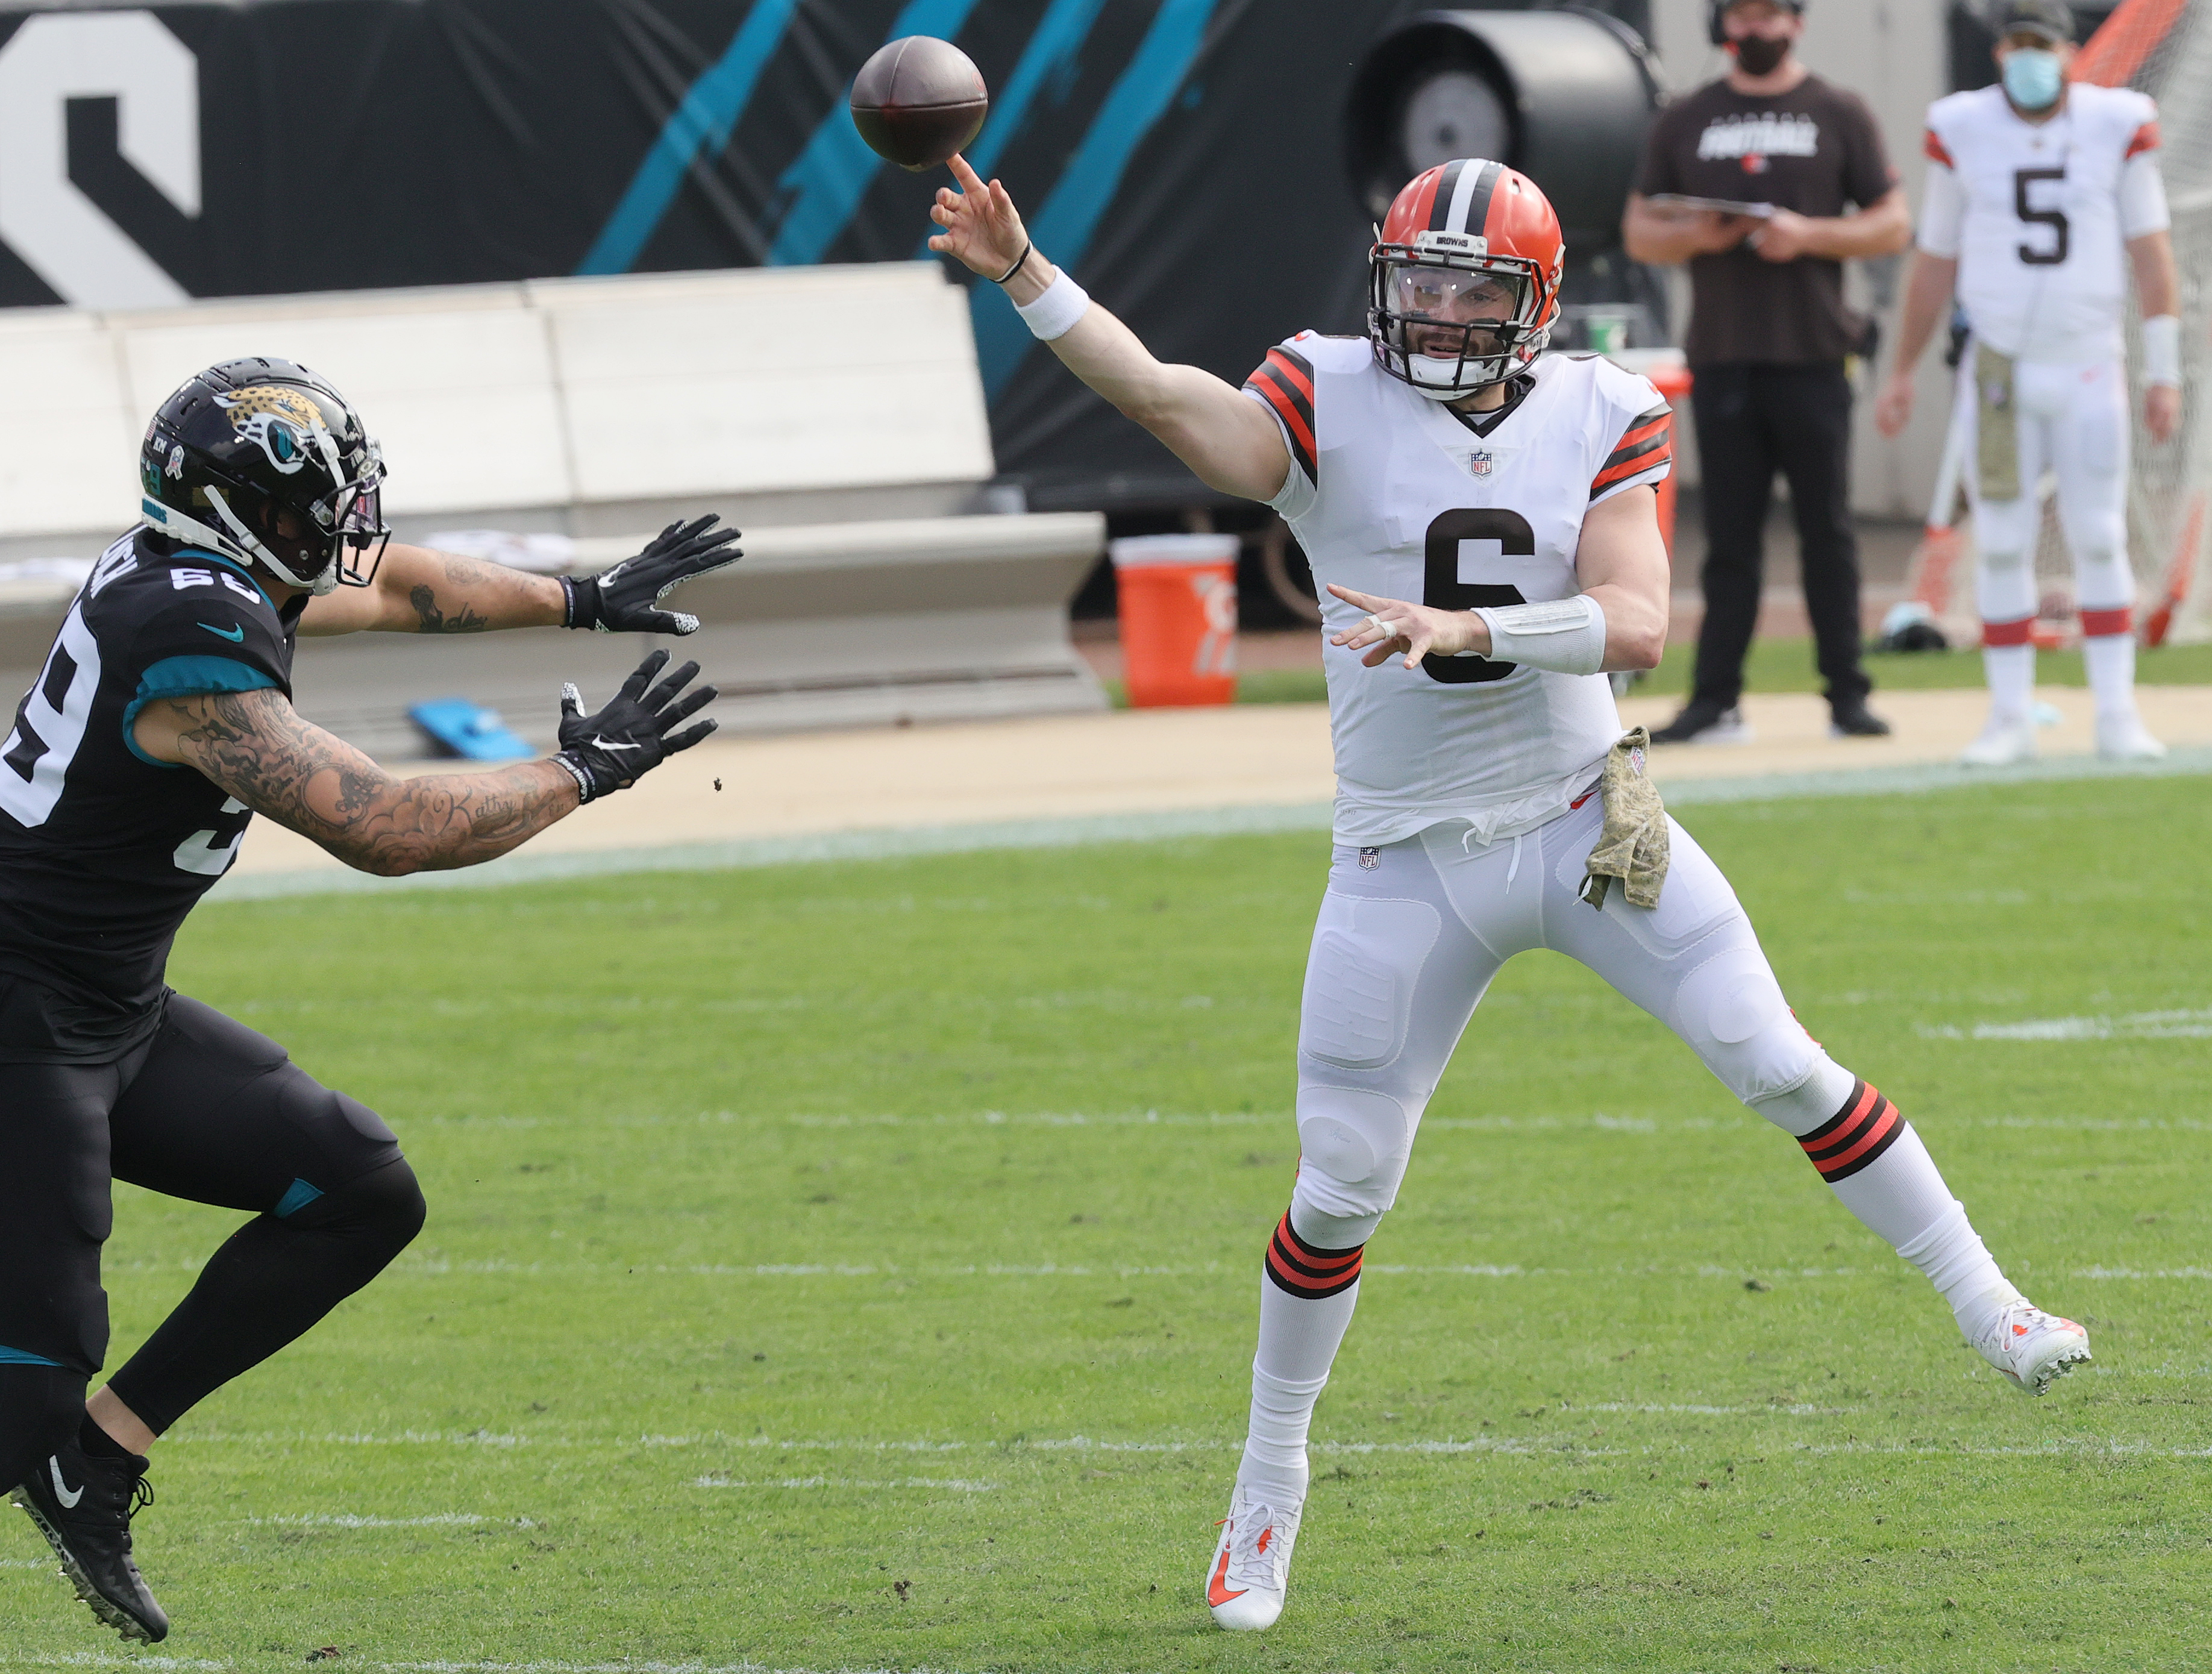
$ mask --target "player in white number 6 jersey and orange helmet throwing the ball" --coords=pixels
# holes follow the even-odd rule
[[[958,157],[953,172],[962,192],[938,195],[931,248],[1002,283],[1206,482],[1274,504],[1327,584],[1336,860],[1305,975],[1298,1179],[1265,1256],[1250,1431],[1206,1572],[1214,1621],[1267,1628],[1283,1610],[1307,1426],[1360,1249],[1482,991],[1524,949],[1582,960],[1674,1028],[1936,1283],[2000,1371],[2042,1393],[2086,1360],[2079,1325],[2004,1280],[1896,1106],[1805,1035],[1681,827],[1666,823],[1655,907],[1610,887],[1593,911],[1579,893],[1601,767],[1641,772],[1615,754],[1604,670],[1650,668],[1666,641],[1652,484],[1670,416],[1606,360],[1537,358],[1564,252],[1535,184],[1482,159],[1420,175],[1371,252],[1369,336],[1298,334],[1237,391],[1155,360],[1033,250],[998,181]]]

